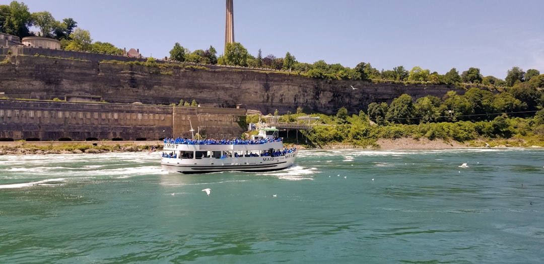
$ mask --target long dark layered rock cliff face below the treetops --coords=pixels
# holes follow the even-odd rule
[[[283,114],[298,107],[335,114],[366,111],[372,102],[391,103],[406,93],[414,100],[442,97],[455,90],[446,85],[374,84],[368,81],[317,80],[284,72],[244,68],[147,67],[110,62],[31,55],[0,55],[12,63],[0,64],[0,92],[5,97],[64,98],[65,95],[101,96],[111,103],[178,104],[180,99],[206,106],[276,109]],[[159,64],[160,65],[160,64]],[[353,86],[355,89],[353,89]],[[464,90],[456,90],[463,94]]]

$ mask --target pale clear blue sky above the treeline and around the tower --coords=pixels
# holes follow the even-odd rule
[[[8,4],[9,0],[2,0]],[[23,0],[30,12],[71,17],[93,41],[164,58],[174,43],[224,50],[225,0]],[[325,60],[378,70],[414,66],[444,74],[513,66],[544,73],[543,0],[234,0],[234,40],[254,56]]]

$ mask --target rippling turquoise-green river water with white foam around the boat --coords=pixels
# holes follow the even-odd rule
[[[544,261],[544,149],[302,150],[201,175],[159,159],[0,156],[0,263]]]

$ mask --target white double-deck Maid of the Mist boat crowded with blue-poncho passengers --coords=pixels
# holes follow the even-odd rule
[[[268,172],[285,169],[296,157],[296,148],[284,148],[276,128],[262,128],[251,140],[165,139],[164,171],[209,173],[223,171]]]

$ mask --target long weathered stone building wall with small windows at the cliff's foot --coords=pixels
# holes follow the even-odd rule
[[[0,99],[0,140],[158,140],[240,136],[245,109]],[[189,121],[191,120],[191,121]],[[201,133],[202,134],[202,133]]]

